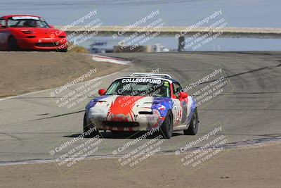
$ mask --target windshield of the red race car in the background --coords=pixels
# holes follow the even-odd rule
[[[8,19],[8,27],[39,27],[49,28],[48,24],[41,18],[12,17]]]

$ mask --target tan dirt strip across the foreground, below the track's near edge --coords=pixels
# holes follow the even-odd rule
[[[152,156],[128,175],[117,158],[80,161],[63,174],[56,163],[0,166],[0,187],[280,187],[280,142],[223,152],[188,174],[174,155]]]

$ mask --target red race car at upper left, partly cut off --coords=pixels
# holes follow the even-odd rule
[[[67,35],[35,15],[0,18],[0,50],[67,52]]]

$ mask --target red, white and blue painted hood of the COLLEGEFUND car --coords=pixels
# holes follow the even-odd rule
[[[169,97],[154,96],[122,96],[105,95],[97,97],[86,106],[86,112],[103,113],[110,115],[152,115],[157,111],[160,116],[166,116],[167,111],[173,105]]]

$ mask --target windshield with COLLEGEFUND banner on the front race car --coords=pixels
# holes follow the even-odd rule
[[[155,78],[124,78],[115,80],[105,94],[169,97],[170,84]]]

